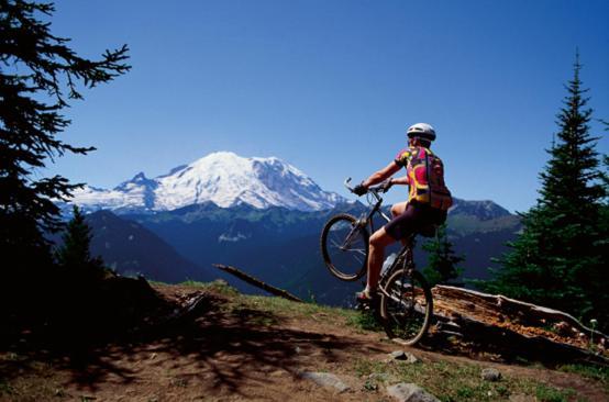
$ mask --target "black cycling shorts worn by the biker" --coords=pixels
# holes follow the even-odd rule
[[[413,233],[427,232],[432,225],[441,225],[446,221],[446,211],[425,204],[409,203],[401,215],[394,217],[385,225],[385,232],[399,241]]]

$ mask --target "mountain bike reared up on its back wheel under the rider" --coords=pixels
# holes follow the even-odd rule
[[[351,178],[345,187],[350,187]],[[367,227],[375,232],[374,216],[384,221],[390,219],[383,210],[383,186],[368,188],[367,202],[370,209],[359,217],[341,213],[332,216],[321,233],[321,254],[330,272],[344,281],[355,281],[366,273],[368,259]],[[372,305],[380,313],[380,321],[390,339],[402,345],[414,345],[428,332],[433,300],[431,288],[414,266],[414,237],[419,234],[432,237],[438,227],[430,225],[403,239],[403,246],[394,263],[380,273],[378,305]]]

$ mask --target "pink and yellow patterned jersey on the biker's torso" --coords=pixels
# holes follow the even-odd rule
[[[396,164],[406,167],[409,203],[429,204],[444,211],[451,208],[453,199],[444,183],[444,165],[430,149],[422,146],[402,149],[396,156]]]

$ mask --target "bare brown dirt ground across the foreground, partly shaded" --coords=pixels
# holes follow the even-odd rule
[[[292,312],[275,312],[209,290],[156,289],[171,301],[202,292],[204,303],[191,319],[110,346],[0,353],[0,400],[387,401],[383,388],[366,389],[356,367],[380,362],[396,349],[411,351],[423,362],[495,367],[507,377],[573,389],[573,400],[609,400],[600,383],[579,375],[398,347],[383,333],[346,325],[345,316],[324,310],[304,314],[295,304]],[[335,373],[351,390],[322,388],[302,379],[303,371]]]

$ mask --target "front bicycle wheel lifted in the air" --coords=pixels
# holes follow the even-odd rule
[[[321,232],[321,255],[334,277],[357,280],[366,272],[368,232],[357,224],[355,216],[335,215]]]

